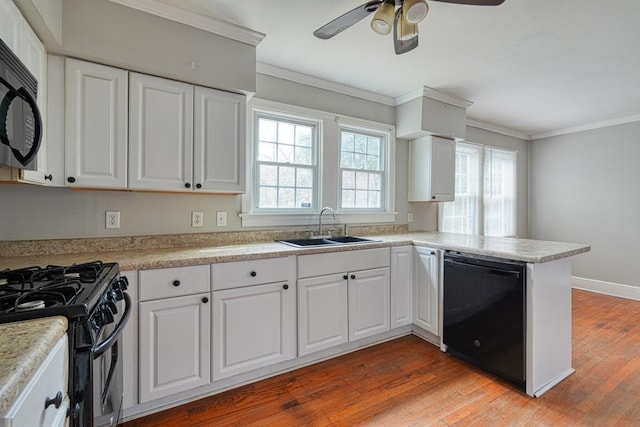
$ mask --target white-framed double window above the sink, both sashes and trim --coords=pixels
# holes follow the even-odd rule
[[[395,128],[254,98],[242,227],[395,221]]]

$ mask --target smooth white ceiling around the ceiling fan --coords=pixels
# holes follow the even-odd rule
[[[526,137],[640,120],[639,0],[430,1],[420,45],[359,22],[313,31],[364,0],[159,0],[266,37],[259,63],[398,98],[423,86],[473,102],[470,120]]]

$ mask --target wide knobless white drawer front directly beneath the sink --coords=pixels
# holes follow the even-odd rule
[[[389,248],[301,255],[298,257],[298,278],[388,267],[389,262]]]

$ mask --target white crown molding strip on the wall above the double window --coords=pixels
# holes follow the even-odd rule
[[[353,86],[347,86],[341,83],[336,83],[330,80],[321,79],[319,77],[298,73],[297,71],[291,71],[261,62],[258,62],[256,64],[256,73],[282,80],[288,80],[294,83],[316,87],[319,89],[328,90],[331,92],[336,92],[341,95],[353,96],[355,98],[364,99],[365,101],[377,102],[379,104],[388,105],[390,107],[394,107],[396,105],[393,101],[393,98],[390,98],[388,96],[379,95],[377,93],[358,89]]]

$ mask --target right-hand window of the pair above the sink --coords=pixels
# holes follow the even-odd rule
[[[384,134],[340,132],[340,208],[380,210],[384,203]]]

